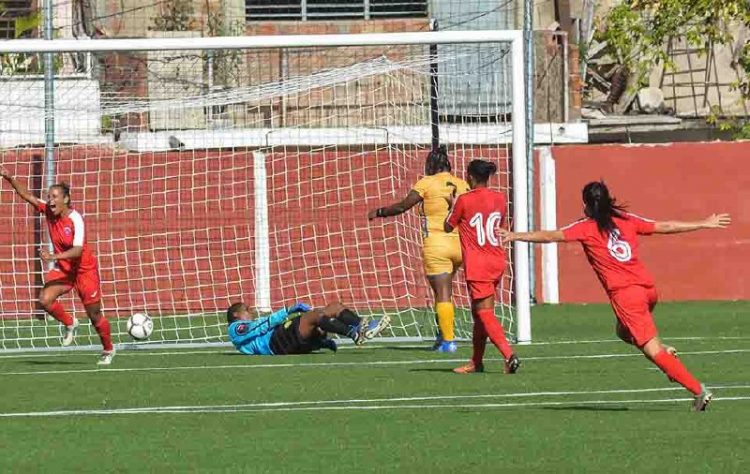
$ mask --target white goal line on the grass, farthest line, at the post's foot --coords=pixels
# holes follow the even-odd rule
[[[750,336],[711,336],[711,337],[703,337],[703,336],[682,336],[682,337],[668,337],[664,338],[663,341],[669,342],[669,341],[746,341],[750,340]],[[462,345],[465,345],[466,347],[470,346],[469,341],[461,341]],[[622,341],[620,339],[591,339],[591,340],[567,340],[567,341],[538,341],[538,342],[532,342],[531,344],[525,345],[524,347],[534,347],[534,346],[552,346],[552,345],[575,345],[575,344],[609,344],[609,343],[617,343],[622,344]],[[215,343],[212,343],[215,345]],[[429,347],[431,346],[431,341],[425,341],[423,343],[410,343],[410,344],[403,344],[398,342],[381,342],[378,340],[374,340],[372,343],[366,344],[364,346],[354,346],[351,344],[341,344],[339,345],[339,350],[356,350],[356,351],[362,351],[362,350],[373,350],[373,349],[391,349],[394,346],[399,348],[405,348],[405,349],[419,349],[424,348],[425,351],[429,350]],[[148,346],[139,346],[137,349],[133,349],[132,344],[126,343],[126,344],[116,344],[116,349],[119,351],[117,357],[131,357],[131,356],[161,356],[161,355],[182,355],[182,354],[223,354],[223,353],[235,353],[236,351],[234,349],[231,349],[231,345],[229,343],[223,344],[225,347],[230,347],[230,349],[221,349],[216,350],[215,348],[207,348],[202,350],[180,350],[179,347],[175,347],[175,350],[170,351],[159,351],[158,349],[148,349]],[[179,343],[175,343],[175,346],[179,346]],[[91,348],[86,349],[76,349],[76,348],[53,348],[53,347],[47,347],[44,348],[45,351],[50,352],[41,352],[40,349],[28,349],[28,350],[17,350],[13,349],[13,351],[19,351],[14,352],[13,354],[2,354],[2,349],[0,349],[0,359],[19,359],[19,358],[26,358],[26,357],[74,357],[74,356],[90,356],[91,352],[99,352],[101,349],[99,349],[96,346],[91,346]]]

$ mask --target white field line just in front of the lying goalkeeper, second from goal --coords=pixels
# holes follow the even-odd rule
[[[680,354],[689,355],[718,355],[718,354],[737,354],[748,353],[750,349],[727,349],[721,351],[691,351],[681,352]],[[238,356],[240,357],[240,356]],[[252,357],[252,356],[249,356]],[[272,356],[271,356],[272,357]],[[582,354],[582,355],[561,355],[561,356],[537,356],[523,357],[522,361],[537,360],[574,360],[574,359],[615,359],[623,357],[643,357],[640,353],[628,354]],[[176,370],[237,370],[237,369],[277,369],[277,368],[331,368],[331,367],[378,367],[378,366],[398,366],[398,365],[423,365],[423,364],[442,364],[442,363],[461,363],[466,362],[462,359],[410,359],[410,360],[381,360],[381,361],[361,361],[361,362],[303,362],[303,363],[276,363],[276,364],[233,364],[233,365],[197,365],[197,366],[177,366],[177,367],[122,367],[106,369],[75,369],[75,370],[38,370],[24,372],[0,372],[0,376],[9,375],[54,375],[54,374],[83,374],[83,373],[107,373],[107,372],[159,372],[159,371],[176,371]],[[489,359],[488,362],[500,362],[500,359]]]

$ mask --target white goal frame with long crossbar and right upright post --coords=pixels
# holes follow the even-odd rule
[[[505,43],[511,53],[511,127],[513,230],[526,232],[528,222],[528,167],[526,160],[526,100],[524,91],[524,44],[522,30],[432,31],[414,33],[365,33],[335,35],[222,36],[209,38],[138,38],[138,39],[19,39],[0,41],[0,53],[70,53],[127,52],[149,50],[231,50],[269,48],[312,48],[346,46],[389,46]],[[259,166],[256,164],[255,169]],[[261,181],[264,182],[264,181]],[[263,193],[264,190],[256,190]],[[257,214],[257,212],[256,212]],[[257,216],[256,216],[257,218]],[[262,231],[262,227],[261,227]],[[261,239],[261,242],[263,239]],[[267,240],[266,240],[267,245]],[[262,246],[259,246],[262,247]],[[268,249],[256,248],[256,256],[268,258]],[[258,288],[268,288],[268,266],[258,265]],[[519,343],[531,342],[531,298],[529,244],[514,242],[514,291],[516,338]],[[264,298],[264,296],[261,296]]]

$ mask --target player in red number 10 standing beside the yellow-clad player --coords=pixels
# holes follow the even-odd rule
[[[507,199],[503,193],[487,187],[490,176],[496,171],[497,166],[489,161],[469,163],[467,175],[471,191],[451,203],[451,212],[444,224],[446,232],[458,227],[474,319],[471,362],[453,370],[458,374],[484,371],[487,337],[502,353],[506,373],[514,374],[520,366],[505,338],[503,326],[495,317],[495,289],[507,264],[505,249],[497,235],[497,228],[505,220]]]

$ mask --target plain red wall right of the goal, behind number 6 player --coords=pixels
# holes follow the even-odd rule
[[[663,300],[750,299],[750,143],[580,145],[553,148],[557,221],[582,215],[581,188],[604,179],[621,203],[655,220],[728,212],[732,226],[643,237],[641,256]],[[578,244],[560,244],[561,302],[603,302]]]

